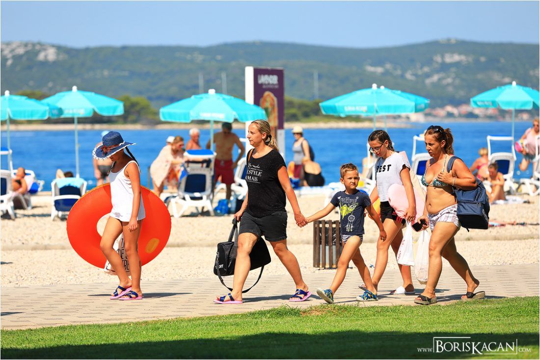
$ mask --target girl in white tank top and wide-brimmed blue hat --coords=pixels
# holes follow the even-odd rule
[[[143,298],[140,289],[141,264],[137,252],[137,241],[145,212],[140,191],[139,164],[127,148],[130,145],[135,144],[124,141],[120,133],[111,131],[103,137],[102,144],[92,152],[93,157],[98,160],[110,158],[113,161],[109,172],[112,210],[99,244],[120,281],[111,300],[141,300]],[[113,243],[120,234],[124,235],[124,247],[130,264],[131,279],[126,274],[122,257],[113,249]]]

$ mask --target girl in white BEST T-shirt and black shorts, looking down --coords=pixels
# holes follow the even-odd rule
[[[392,246],[394,254],[400,248],[403,240],[402,228],[405,221],[415,221],[416,219],[416,201],[414,198],[413,184],[410,180],[410,165],[403,158],[402,154],[394,150],[392,140],[386,131],[375,130],[368,137],[368,142],[371,153],[377,157],[375,162],[375,180],[376,186],[369,195],[372,203],[375,203],[377,198],[381,200],[381,221],[386,231],[386,239],[377,240],[377,259],[375,261],[375,269],[373,270],[373,285],[375,291],[379,288],[379,282],[382,279],[384,270],[388,264],[388,249]],[[388,201],[388,189],[393,184],[403,185],[407,194],[408,203],[411,204],[402,219],[397,216],[396,211]],[[398,264],[401,277],[403,280],[402,286],[392,291],[393,294],[413,294],[414,286],[413,279],[410,274],[410,266]],[[360,286],[362,290],[366,290],[365,285]]]

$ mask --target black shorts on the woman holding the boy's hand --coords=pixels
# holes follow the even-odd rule
[[[287,239],[287,212],[276,211],[262,218],[255,218],[244,212],[240,219],[239,234],[244,233],[264,235],[266,241],[285,240]]]

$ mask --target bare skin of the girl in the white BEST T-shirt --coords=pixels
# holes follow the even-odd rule
[[[369,146],[372,147],[377,157],[386,159],[394,152],[388,149],[388,140],[384,140],[381,143],[378,140],[369,141]],[[407,194],[407,200],[409,202],[409,208],[405,215],[405,220],[413,221],[416,219],[416,200],[414,198],[413,183],[410,181],[409,169],[403,167],[400,172],[401,181],[405,187],[405,193]],[[369,195],[372,203],[379,198],[377,187],[373,188],[372,193]],[[401,241],[403,240],[402,225],[401,222],[394,221],[392,219],[384,219],[383,222],[384,231],[386,231],[386,239],[377,240],[377,259],[375,260],[375,270],[373,271],[373,285],[375,289],[378,289],[379,282],[381,281],[384,270],[388,263],[388,248],[392,246],[395,256],[400,248]],[[405,291],[414,291],[413,279],[410,275],[410,266],[398,264],[401,277],[403,279],[403,287]]]

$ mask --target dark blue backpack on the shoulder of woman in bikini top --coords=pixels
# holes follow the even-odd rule
[[[454,161],[448,160],[447,171],[450,172]],[[461,159],[460,159],[461,160]],[[489,198],[482,181],[476,179],[476,188],[462,190],[454,188],[457,199],[457,219],[467,229],[487,229],[489,226]]]

